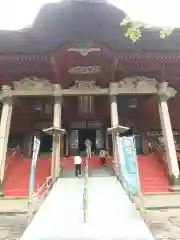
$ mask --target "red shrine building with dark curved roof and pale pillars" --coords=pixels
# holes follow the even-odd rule
[[[143,191],[179,184],[180,30],[160,39],[158,29],[145,29],[133,43],[125,17],[103,0],[64,0],[44,5],[28,29],[0,31],[4,195],[27,195],[34,136],[40,184],[52,161],[83,156],[86,138],[94,158],[101,149],[116,158],[117,133],[107,130],[118,125],[135,136]],[[48,134],[55,130],[58,138]]]

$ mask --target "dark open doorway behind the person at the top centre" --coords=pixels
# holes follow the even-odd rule
[[[96,150],[96,130],[81,129],[78,133],[79,137],[79,152],[85,151],[85,141],[88,138],[92,142],[92,151]]]

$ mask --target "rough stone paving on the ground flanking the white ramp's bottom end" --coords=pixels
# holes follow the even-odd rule
[[[180,239],[180,210],[147,211],[155,240]],[[27,226],[24,214],[0,215],[0,240],[19,240]]]

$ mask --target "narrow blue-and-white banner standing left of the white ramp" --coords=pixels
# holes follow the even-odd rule
[[[35,183],[35,171],[36,171],[36,164],[39,154],[40,148],[40,140],[35,136],[34,143],[33,143],[33,155],[32,155],[32,163],[31,163],[31,170],[30,170],[30,178],[29,178],[29,196],[32,196],[34,193],[34,183]]]

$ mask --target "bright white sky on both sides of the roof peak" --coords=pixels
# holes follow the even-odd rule
[[[18,30],[32,25],[40,8],[59,0],[0,0],[0,29]],[[180,27],[180,0],[108,0],[132,20],[152,26]]]

